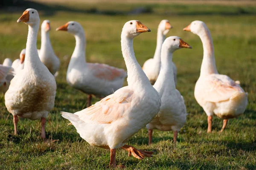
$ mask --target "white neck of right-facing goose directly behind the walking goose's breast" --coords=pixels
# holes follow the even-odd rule
[[[172,91],[176,89],[172,69],[172,52],[165,46],[161,50],[161,70],[154,84],[154,88],[160,93],[160,96],[166,90]]]

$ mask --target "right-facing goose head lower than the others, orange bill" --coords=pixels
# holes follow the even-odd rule
[[[180,48],[192,48],[188,43],[184,42],[180,37],[171,36],[166,38],[163,42],[163,47],[167,48],[168,51],[174,52]]]

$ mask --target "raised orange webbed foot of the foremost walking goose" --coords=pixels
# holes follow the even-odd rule
[[[135,147],[129,146],[127,144],[125,144],[121,148],[124,150],[127,150],[129,152],[128,156],[131,156],[131,154],[132,154],[132,156],[134,156],[137,159],[144,159],[145,157],[152,157],[152,154],[154,153],[151,151],[137,150]]]

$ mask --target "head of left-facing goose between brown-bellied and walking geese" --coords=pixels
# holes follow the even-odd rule
[[[78,22],[70,21],[63,26],[56,28],[56,31],[67,31],[71,34],[78,34],[79,32],[84,31],[84,29]]]

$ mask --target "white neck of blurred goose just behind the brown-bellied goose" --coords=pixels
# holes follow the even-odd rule
[[[54,51],[52,49],[52,44],[49,37],[49,31],[44,31],[41,29],[41,49],[40,53],[45,54],[54,54]]]

